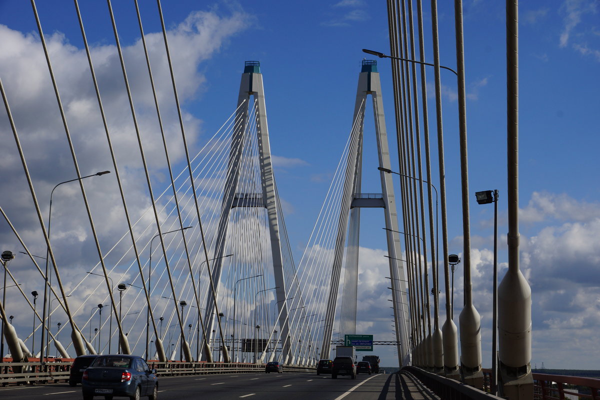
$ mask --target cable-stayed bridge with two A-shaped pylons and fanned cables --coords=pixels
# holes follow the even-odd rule
[[[376,208],[380,209],[378,218],[386,231],[389,276],[381,279],[389,280],[395,333],[395,341],[389,344],[393,345],[390,348],[394,348],[398,364],[406,371],[415,366],[474,387],[488,387],[494,393],[499,378],[503,395],[531,398],[531,293],[518,267],[517,209],[509,208],[509,272],[501,277],[499,287],[499,353],[484,382],[480,318],[470,295],[464,49],[461,4],[456,3],[460,46],[453,70],[440,65],[436,35],[431,45],[433,62],[425,62],[421,2],[416,2],[415,10],[412,1],[389,2],[390,55],[367,53],[392,58],[394,87],[382,88],[378,71],[381,65],[374,60],[362,61],[361,70],[357,71],[352,127],[346,143],[333,150],[341,154],[331,185],[305,250],[295,260],[275,179],[277,170],[269,143],[266,107],[268,93],[263,86],[260,62],[245,62],[236,108],[223,113],[222,127],[203,138],[202,145],[191,146],[160,2],[161,59],[169,72],[166,80],[164,76],[158,79],[152,70],[136,2],[141,55],[137,62],[146,65],[148,76],[142,95],[136,92],[137,76],[128,74],[128,59],[119,43],[119,30],[109,2],[120,67],[119,85],[123,85],[127,99],[120,105],[128,108],[130,116],[128,121],[119,121],[122,125],[116,125],[111,117],[113,104],[103,97],[106,80],[102,76],[106,71],[101,63],[94,62],[75,2],[92,82],[88,90],[94,91],[97,98],[93,106],[85,104],[84,110],[92,113],[93,109],[95,116],[90,119],[101,127],[95,145],[107,163],[106,170],[90,175],[82,168],[81,154],[86,152],[77,137],[81,128],[77,104],[70,94],[65,95],[70,90],[64,91],[56,79],[54,67],[60,60],[46,43],[43,20],[32,2],[40,52],[62,124],[56,139],[67,139],[69,158],[61,163],[71,165],[75,173],[71,179],[56,182],[48,190],[47,201],[45,188],[36,185],[35,176],[41,173],[35,170],[39,163],[28,156],[32,143],[26,137],[31,134],[26,121],[34,117],[27,116],[21,104],[11,101],[14,96],[7,89],[10,85],[0,81],[6,110],[2,131],[5,142],[16,146],[22,182],[28,190],[26,201],[31,203],[31,228],[15,223],[17,215],[0,207],[4,226],[15,238],[14,249],[7,249],[2,255],[7,277],[0,307],[5,338],[2,355],[10,354],[13,362],[33,365],[47,363],[53,354],[70,359],[82,354],[118,352],[143,354],[146,359],[163,364],[173,360],[190,365],[217,362],[229,368],[232,364],[256,366],[280,360],[284,365],[314,368],[319,359],[333,357],[335,345],[343,343],[345,335],[363,333],[356,326],[361,208]],[[432,2],[431,29],[437,32],[434,6]],[[516,5],[507,5],[507,10],[516,24]],[[509,68],[507,79],[518,82],[516,25],[508,24],[507,31],[515,50],[508,56],[512,69]],[[420,56],[416,56],[417,52]],[[431,68],[427,71],[434,75],[435,104],[428,104],[426,68]],[[452,316],[449,287],[452,264],[457,260],[448,249],[440,71],[455,74],[460,94],[465,243],[462,263],[466,276],[464,308],[457,315],[460,337]],[[165,82],[170,86],[169,100],[158,89]],[[383,92],[394,97],[396,126],[392,139],[388,139]],[[517,94],[518,85],[509,85],[509,109],[518,110]],[[145,102],[139,100],[140,96],[146,97]],[[435,124],[427,119],[428,107],[436,109]],[[155,110],[151,123],[148,108]],[[364,131],[371,112],[375,137],[369,139]],[[518,126],[516,113],[509,113],[509,122],[511,128]],[[71,128],[73,125],[77,128]],[[518,193],[518,171],[511,170],[517,165],[517,132],[514,129],[508,133],[512,181],[507,197],[511,204],[517,203]],[[124,154],[119,145],[125,136],[128,146]],[[377,148],[380,193],[362,192],[367,179],[363,169],[364,144],[370,140]],[[439,182],[432,179],[431,159],[435,155],[430,154],[430,142],[434,140],[442,177]],[[397,165],[392,164],[396,157],[390,157],[395,148]],[[154,163],[157,158],[164,161],[160,169]],[[136,170],[140,179],[132,181],[131,170]],[[400,176],[396,191],[392,173]],[[90,194],[94,190],[91,182],[103,179],[111,179],[114,184],[115,196],[108,205],[98,204]],[[67,188],[73,197],[69,204],[83,204],[85,209],[73,209],[72,219],[77,222],[71,225],[61,224],[52,213],[53,196]],[[492,196],[488,200],[497,204],[497,193]],[[98,206],[109,209],[110,218],[101,218],[95,212]],[[86,233],[81,233],[84,230]],[[65,250],[56,243],[76,232],[93,245],[85,246],[85,265],[65,268]],[[11,270],[14,255],[29,258],[29,275]],[[88,263],[92,258],[95,262]],[[42,279],[44,290],[30,296],[20,288],[23,279]],[[6,289],[11,285],[11,293],[18,300],[6,298]],[[439,296],[438,285],[445,286],[444,297]],[[19,301],[26,312],[31,309],[32,329],[14,328],[7,300]],[[494,312],[495,308],[494,305]]]

